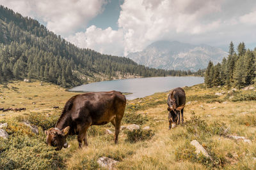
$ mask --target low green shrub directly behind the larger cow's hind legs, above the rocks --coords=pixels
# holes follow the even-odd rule
[[[145,122],[148,121],[147,115],[145,117],[141,114],[136,114],[134,111],[132,112],[125,112],[124,122],[127,124],[138,124],[138,125],[143,125]]]

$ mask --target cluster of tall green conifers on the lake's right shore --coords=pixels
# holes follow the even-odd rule
[[[221,63],[214,64],[210,61],[205,71],[206,87],[226,85],[227,88],[239,89],[256,82],[256,48],[252,51],[246,49],[244,43],[239,43],[237,50],[231,41],[227,59],[224,57]]]

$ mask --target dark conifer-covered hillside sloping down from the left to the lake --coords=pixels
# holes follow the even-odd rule
[[[0,6],[0,82],[23,78],[74,87],[127,77],[186,75],[136,64],[125,57],[78,48],[32,18]]]

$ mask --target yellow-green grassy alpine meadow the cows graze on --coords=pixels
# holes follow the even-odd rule
[[[122,125],[138,124],[141,130],[120,131],[115,145],[115,131],[110,123],[88,130],[89,146],[78,148],[76,136],[61,151],[45,145],[44,130],[53,127],[65,102],[75,92],[35,81],[13,81],[0,85],[0,108],[26,108],[26,111],[0,111],[0,123],[9,139],[0,138],[0,169],[99,169],[97,159],[115,159],[116,169],[256,169],[256,92],[205,89],[204,84],[184,87],[187,104],[184,125],[168,130],[166,100],[168,92],[127,101]],[[223,92],[216,96],[216,92]],[[53,109],[60,106],[60,109]],[[22,124],[39,127],[34,134]],[[150,130],[142,130],[149,126]],[[244,136],[252,143],[235,140]],[[211,155],[196,155],[190,141],[196,139]]]

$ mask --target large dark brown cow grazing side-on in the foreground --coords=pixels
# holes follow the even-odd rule
[[[88,92],[71,97],[62,111],[56,126],[45,131],[47,145],[56,150],[67,148],[67,135],[77,134],[79,148],[84,142],[88,146],[86,131],[91,125],[104,125],[111,122],[115,126],[115,143],[118,142],[121,120],[126,105],[121,92]]]

